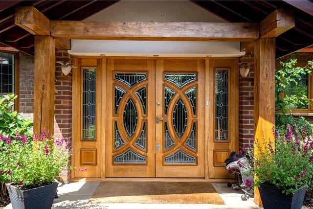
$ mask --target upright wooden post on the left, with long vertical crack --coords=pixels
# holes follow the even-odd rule
[[[34,133],[43,128],[53,135],[55,40],[35,36]]]

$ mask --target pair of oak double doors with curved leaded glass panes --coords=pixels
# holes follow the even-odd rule
[[[108,59],[106,177],[205,177],[204,60]]]

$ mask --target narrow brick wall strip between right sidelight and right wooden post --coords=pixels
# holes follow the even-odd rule
[[[253,66],[253,54],[241,57],[240,63],[244,62]],[[245,78],[239,75],[239,150],[243,151],[252,147],[254,141],[253,88],[254,69],[250,67]]]

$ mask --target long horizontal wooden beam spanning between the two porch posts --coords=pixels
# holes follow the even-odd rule
[[[56,39],[247,41],[259,38],[259,23],[155,23],[50,21]]]

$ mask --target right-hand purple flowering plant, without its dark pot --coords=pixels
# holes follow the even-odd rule
[[[254,149],[248,151],[253,186],[268,184],[290,194],[303,186],[313,187],[313,138],[305,130],[287,126],[285,132],[273,130],[275,142],[269,139],[255,140]],[[279,134],[281,133],[281,134]]]

